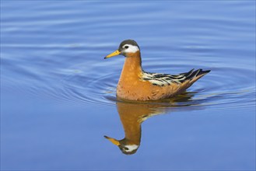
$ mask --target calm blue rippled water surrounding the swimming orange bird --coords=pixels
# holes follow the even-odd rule
[[[255,11],[247,0],[2,0],[1,169],[254,170]],[[118,102],[124,58],[103,57],[125,39],[147,72],[212,72],[173,99]],[[133,155],[103,138],[142,119]]]

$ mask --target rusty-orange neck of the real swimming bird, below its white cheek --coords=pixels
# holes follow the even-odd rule
[[[140,52],[136,51],[135,53],[126,54],[126,58],[124,61],[124,67],[121,73],[124,77],[137,77],[142,73],[142,58],[140,56]]]

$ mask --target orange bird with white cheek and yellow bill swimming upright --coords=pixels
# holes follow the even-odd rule
[[[169,99],[184,92],[194,82],[211,70],[191,69],[176,75],[145,72],[139,45],[135,40],[123,40],[117,51],[104,59],[117,55],[125,57],[116,94],[119,99],[148,101]]]

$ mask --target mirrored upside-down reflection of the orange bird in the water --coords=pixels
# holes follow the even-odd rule
[[[188,102],[192,96],[193,93],[185,92],[180,96],[173,99],[168,99],[168,101],[165,102],[132,103],[118,101],[116,103],[117,111],[124,127],[125,137],[121,140],[110,138],[108,136],[104,137],[111,141],[114,145],[117,145],[124,154],[132,155],[137,152],[141,143],[141,124],[143,121],[149,117],[166,113],[167,110],[170,112],[170,110],[172,110],[170,104],[175,104],[177,102]]]

